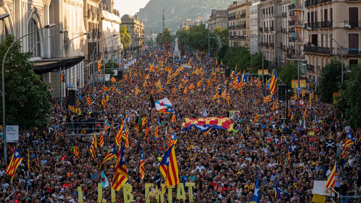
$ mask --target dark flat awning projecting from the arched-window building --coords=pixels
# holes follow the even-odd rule
[[[59,70],[60,67],[64,67],[68,69],[78,63],[82,62],[85,59],[84,56],[74,56],[74,57],[64,57],[61,58],[48,58],[48,59],[41,59],[37,61],[33,61],[35,63],[34,72],[36,74],[44,74],[53,72],[54,70]]]

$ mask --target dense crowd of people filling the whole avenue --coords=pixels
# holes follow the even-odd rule
[[[152,64],[156,70],[145,83]],[[184,70],[181,67],[184,67]],[[164,70],[165,68],[167,70]],[[110,91],[107,92],[105,107],[101,104],[102,82],[97,83],[96,98],[92,99],[91,106],[86,102],[88,86],[79,90],[82,99],[78,107],[81,112],[66,115],[66,109],[58,108],[60,100],[54,99],[52,123],[44,129],[40,126],[29,129],[19,136],[16,146],[24,161],[18,167],[13,180],[5,173],[7,163],[4,159],[1,160],[0,202],[79,202],[79,186],[82,188],[83,202],[97,202],[100,175],[103,171],[111,183],[116,159],[106,161],[101,167],[100,163],[114,143],[114,137],[127,111],[130,143],[125,149],[125,157],[129,183],[133,188],[132,202],[145,203],[145,183],[156,183],[159,164],[168,150],[171,130],[178,137],[175,152],[180,183],[195,183],[193,194],[190,194],[193,195],[193,202],[249,203],[255,195],[259,171],[261,203],[308,203],[313,197],[314,181],[326,181],[335,162],[338,168],[335,177],[336,190],[342,192],[342,195],[361,194],[360,127],[351,129],[355,144],[348,146],[345,157],[341,158],[340,151],[347,135],[345,127],[348,124],[346,120],[336,117],[331,104],[315,99],[307,105],[280,102],[277,108],[272,110],[278,98],[277,89],[273,100],[264,103],[263,98],[270,95],[264,85],[257,86],[253,79],[249,79],[241,90],[232,88],[230,83],[233,78],[225,77],[224,68],[221,61],[196,52],[187,53],[183,62],[166,61],[164,52],[155,46],[150,49],[149,55],[138,59],[130,68],[130,73],[123,75],[123,79],[115,83],[107,82],[106,86]],[[178,75],[175,74],[166,84],[170,74],[177,73],[177,70]],[[236,70],[235,73],[239,71],[243,72]],[[187,81],[184,81],[184,78]],[[211,81],[212,87],[205,81],[206,78]],[[164,84],[160,91],[160,88],[155,86],[159,80]],[[198,87],[196,84],[199,81],[201,86]],[[185,86],[193,83],[194,89],[184,94]],[[229,88],[230,104],[223,98],[212,99],[219,84],[222,91]],[[116,88],[113,88],[114,86]],[[175,86],[177,90],[173,93]],[[149,112],[152,88],[155,100],[165,97],[170,99],[173,110],[177,111],[175,122],[171,122],[172,113],[158,113],[155,108]],[[305,100],[308,101],[308,98]],[[283,118],[287,117],[288,106],[291,108],[292,119],[288,117],[286,127],[280,130]],[[65,103],[63,107],[66,108]],[[136,133],[138,108],[142,118],[149,115],[150,130],[147,137],[144,137],[144,132],[142,137]],[[307,111],[303,120],[305,108]],[[257,122],[253,122],[259,109],[261,115]],[[193,128],[188,132],[181,132],[184,118],[229,117],[229,111],[239,111],[232,117],[233,131],[219,129],[204,135],[204,132]],[[155,138],[158,119],[160,133],[158,138]],[[313,127],[314,120],[316,124]],[[99,139],[99,129],[105,121],[110,124],[104,134],[105,144],[96,149],[97,157],[91,159],[92,129],[95,129]],[[92,122],[98,123],[87,124]],[[87,128],[90,129],[86,134],[79,134],[82,129]],[[77,139],[80,158],[73,154],[74,139]],[[332,146],[330,142],[326,142],[330,140],[334,142]],[[8,144],[8,147],[9,160],[14,146]],[[288,161],[289,148],[291,157]],[[28,149],[30,169],[26,166]],[[142,149],[145,157],[143,180],[139,176]],[[164,182],[164,177],[161,177],[161,182]],[[276,188],[282,192],[275,195]],[[14,194],[10,195],[10,192]],[[186,193],[188,192],[186,187]],[[8,195],[10,197],[5,201]],[[103,189],[102,195],[103,199],[110,202],[110,186]],[[116,202],[123,201],[122,195],[121,191],[117,191]],[[175,197],[174,190],[173,202],[189,202],[189,199]],[[158,202],[152,194],[148,198],[152,202]],[[329,197],[326,200],[329,201]],[[348,200],[360,202],[357,198]]]

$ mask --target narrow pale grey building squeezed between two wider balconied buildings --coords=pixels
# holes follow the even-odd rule
[[[258,52],[258,37],[260,34],[260,4],[261,0],[252,0],[252,6],[249,7],[249,33],[250,37],[256,40],[250,40],[250,52],[255,54]]]

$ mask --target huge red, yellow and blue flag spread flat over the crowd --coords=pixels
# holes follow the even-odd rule
[[[202,132],[208,129],[224,129],[229,132],[233,131],[234,122],[227,117],[208,117],[208,118],[185,118],[185,123],[182,124],[184,127],[182,132],[187,132],[192,127]]]

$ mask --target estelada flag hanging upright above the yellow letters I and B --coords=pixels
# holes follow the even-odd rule
[[[114,169],[112,188],[116,191],[119,191],[124,185],[124,183],[126,183],[127,181],[128,181],[128,173],[127,173],[127,166],[125,165],[123,144],[120,143],[117,165]]]

